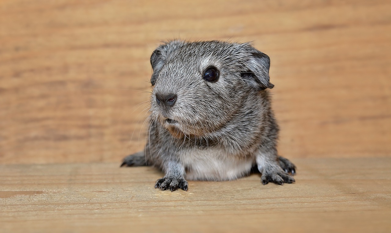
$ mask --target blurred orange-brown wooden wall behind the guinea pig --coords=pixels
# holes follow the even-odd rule
[[[271,57],[282,155],[391,155],[389,0],[2,0],[0,163],[142,149],[149,57],[173,38]]]

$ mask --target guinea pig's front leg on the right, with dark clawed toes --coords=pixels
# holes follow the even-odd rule
[[[280,166],[274,149],[271,149],[271,151],[259,151],[258,155],[256,155],[256,164],[258,171],[262,173],[261,181],[264,185],[269,182],[283,185],[284,183],[293,183],[295,181]]]

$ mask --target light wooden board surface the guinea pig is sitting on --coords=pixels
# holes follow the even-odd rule
[[[118,163],[0,165],[2,232],[390,232],[391,158],[298,158],[296,183],[189,181]]]

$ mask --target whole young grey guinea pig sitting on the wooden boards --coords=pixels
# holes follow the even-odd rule
[[[160,45],[151,65],[145,151],[121,166],[153,165],[165,173],[155,188],[171,191],[251,171],[264,185],[294,182],[295,165],[277,154],[266,54],[249,43],[176,40]]]

